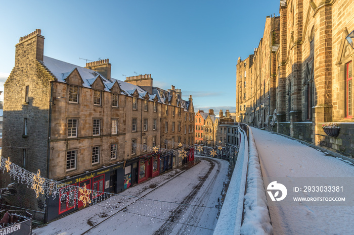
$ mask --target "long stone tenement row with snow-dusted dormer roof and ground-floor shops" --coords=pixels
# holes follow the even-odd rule
[[[111,77],[109,60],[72,65],[45,56],[38,29],[16,44],[15,67],[5,82],[3,156],[43,178],[117,193],[182,164],[173,149],[192,149],[194,107],[182,92],[153,87],[151,75]],[[161,151],[153,151],[158,147]],[[193,160],[192,151],[184,161]],[[1,186],[13,182],[1,172]],[[51,221],[82,207],[36,198],[18,184],[3,200]]]

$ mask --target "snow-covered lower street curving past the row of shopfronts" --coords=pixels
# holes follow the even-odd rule
[[[212,234],[229,162],[197,158],[33,234]]]

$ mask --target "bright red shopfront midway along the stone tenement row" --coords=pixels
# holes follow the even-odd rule
[[[139,180],[138,184],[148,180],[149,178],[159,175],[160,153],[152,153],[140,157],[139,159]]]

